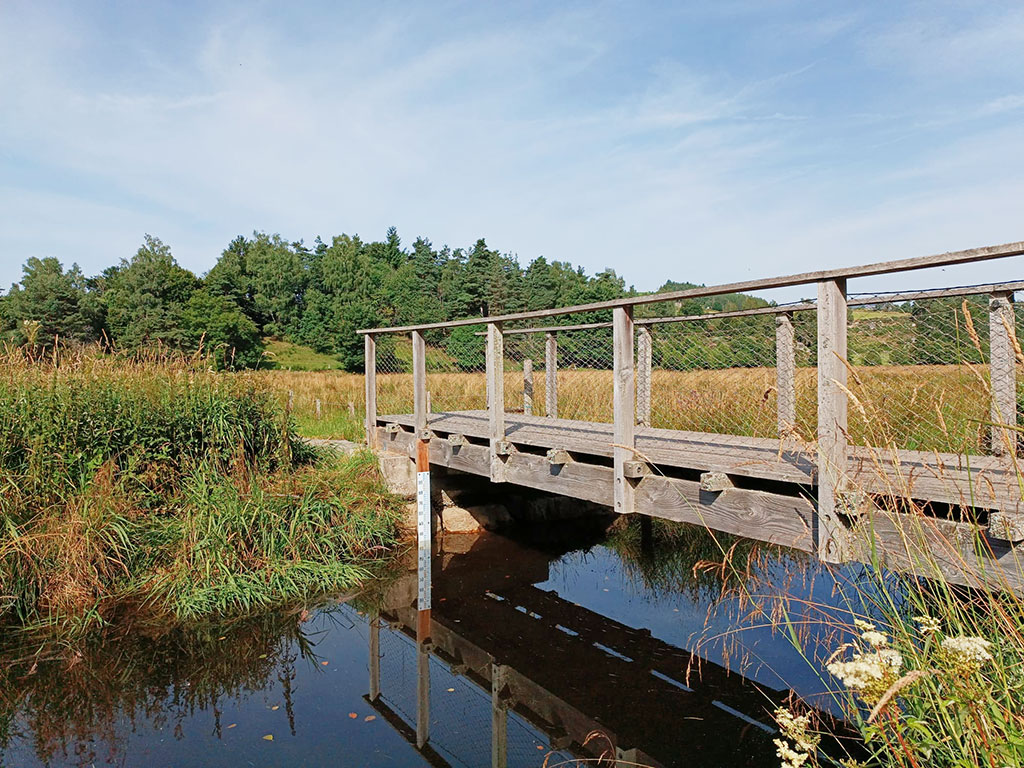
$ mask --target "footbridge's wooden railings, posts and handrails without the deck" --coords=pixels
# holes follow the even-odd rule
[[[471,317],[449,323],[432,323],[400,328],[377,328],[359,331],[366,343],[366,402],[368,441],[373,444],[378,422],[376,385],[376,344],[382,334],[411,334],[413,340],[412,378],[414,382],[415,428],[419,439],[429,439],[427,367],[424,333],[436,329],[454,329],[465,326],[485,325],[486,360],[486,412],[488,419],[488,444],[490,477],[494,481],[505,479],[505,459],[514,450],[506,436],[506,410],[504,373],[505,337],[512,334],[544,334],[545,414],[550,418],[558,414],[558,355],[559,335],[589,329],[610,328],[612,331],[611,373],[613,422],[613,484],[614,509],[620,513],[634,511],[634,487],[642,475],[640,462],[635,454],[637,428],[651,426],[651,329],[660,324],[706,322],[708,314],[665,317],[637,317],[635,309],[652,303],[678,302],[685,299],[719,296],[736,292],[764,291],[767,289],[815,286],[816,301],[790,305],[767,306],[732,312],[718,312],[717,318],[751,315],[774,315],[775,319],[775,381],[777,428],[780,436],[794,429],[797,421],[797,364],[794,315],[797,312],[814,312],[817,335],[817,525],[816,545],[825,560],[842,557],[841,542],[837,532],[843,527],[839,519],[841,495],[845,489],[845,472],[850,456],[849,445],[849,362],[848,362],[848,309],[851,306],[920,301],[987,294],[989,302],[989,381],[990,381],[990,431],[991,447],[995,455],[1016,454],[1017,436],[1017,382],[1016,368],[1020,355],[1016,346],[1014,292],[1024,290],[1024,282],[988,284],[965,288],[932,291],[882,294],[874,296],[848,296],[848,282],[867,275],[889,274],[913,269],[966,264],[1024,254],[1024,243],[979,248],[936,256],[882,262],[847,269],[807,272],[760,281],[745,281],[708,288],[695,288],[672,293],[628,297],[585,305],[558,307],[548,310],[517,312],[492,317]],[[575,326],[547,325],[532,328],[512,328],[509,324],[537,322],[544,318],[611,310],[611,322],[589,323]],[[532,359],[523,362],[523,412],[531,414],[534,402]]]

